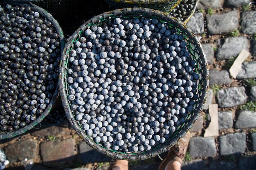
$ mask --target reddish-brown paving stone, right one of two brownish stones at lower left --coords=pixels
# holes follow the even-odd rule
[[[76,155],[74,146],[74,139],[42,142],[40,152],[43,162],[55,165],[73,161]]]

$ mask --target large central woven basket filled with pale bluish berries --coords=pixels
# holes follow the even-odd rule
[[[66,43],[59,66],[67,119],[95,150],[143,160],[174,146],[198,119],[209,70],[180,20],[125,8],[97,15]]]

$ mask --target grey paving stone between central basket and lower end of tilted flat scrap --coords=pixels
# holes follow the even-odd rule
[[[218,71],[216,69],[209,70],[210,86],[214,84],[231,84],[232,80],[227,70]]]

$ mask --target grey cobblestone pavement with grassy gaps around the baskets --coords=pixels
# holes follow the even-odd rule
[[[182,170],[256,169],[256,11],[244,11],[249,1],[200,0],[188,23],[206,53],[211,90],[202,116],[191,129],[189,154]],[[212,15],[207,13],[209,8]],[[233,79],[230,62],[242,49],[252,55]],[[210,104],[219,107],[219,133],[203,137],[211,121]],[[102,162],[111,162],[87,146],[67,124],[0,141],[0,147],[11,162],[8,170],[23,170],[21,161],[25,158],[35,163],[32,170],[107,170],[110,163]],[[156,170],[160,162],[158,157],[131,162],[130,170]]]

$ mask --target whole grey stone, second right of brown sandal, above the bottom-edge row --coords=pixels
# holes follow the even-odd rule
[[[231,133],[219,138],[220,155],[230,155],[245,152],[246,136],[245,132]]]

